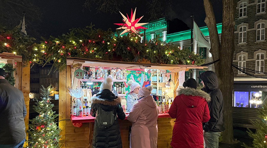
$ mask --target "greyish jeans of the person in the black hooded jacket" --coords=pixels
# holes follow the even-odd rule
[[[220,135],[221,135],[221,132],[203,131],[204,147],[205,148],[218,148]]]

